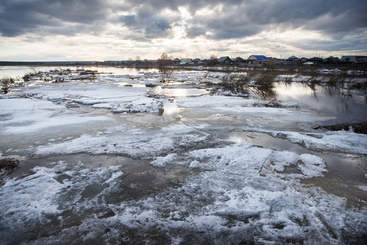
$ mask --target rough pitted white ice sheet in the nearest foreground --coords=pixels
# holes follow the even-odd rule
[[[7,210],[1,222],[3,227],[11,225],[1,237],[22,242],[33,238],[32,229],[43,227],[38,240],[28,244],[97,244],[96,237],[104,244],[134,244],[145,243],[152,235],[159,244],[177,240],[181,244],[341,244],[344,229],[353,233],[367,228],[366,211],[364,215],[348,211],[344,219],[343,198],[299,184],[298,178],[325,171],[318,157],[235,144],[165,158],[152,164],[185,163],[206,171],[188,176],[182,186],[166,193],[120,203],[109,202],[110,193],[124,191],[119,187],[123,176],[119,167],[66,168],[59,162],[54,168],[35,168],[32,175],[8,180],[0,192],[1,207]],[[302,174],[281,172],[284,162],[303,166]],[[102,188],[83,193],[92,184]],[[8,196],[15,192],[17,198]],[[31,205],[25,201],[29,198]],[[23,226],[25,220],[29,225]],[[50,220],[55,220],[52,226]],[[72,220],[78,226],[70,225]],[[53,226],[62,230],[53,233]]]

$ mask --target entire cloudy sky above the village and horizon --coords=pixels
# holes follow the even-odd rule
[[[0,0],[0,61],[367,55],[366,0]]]

